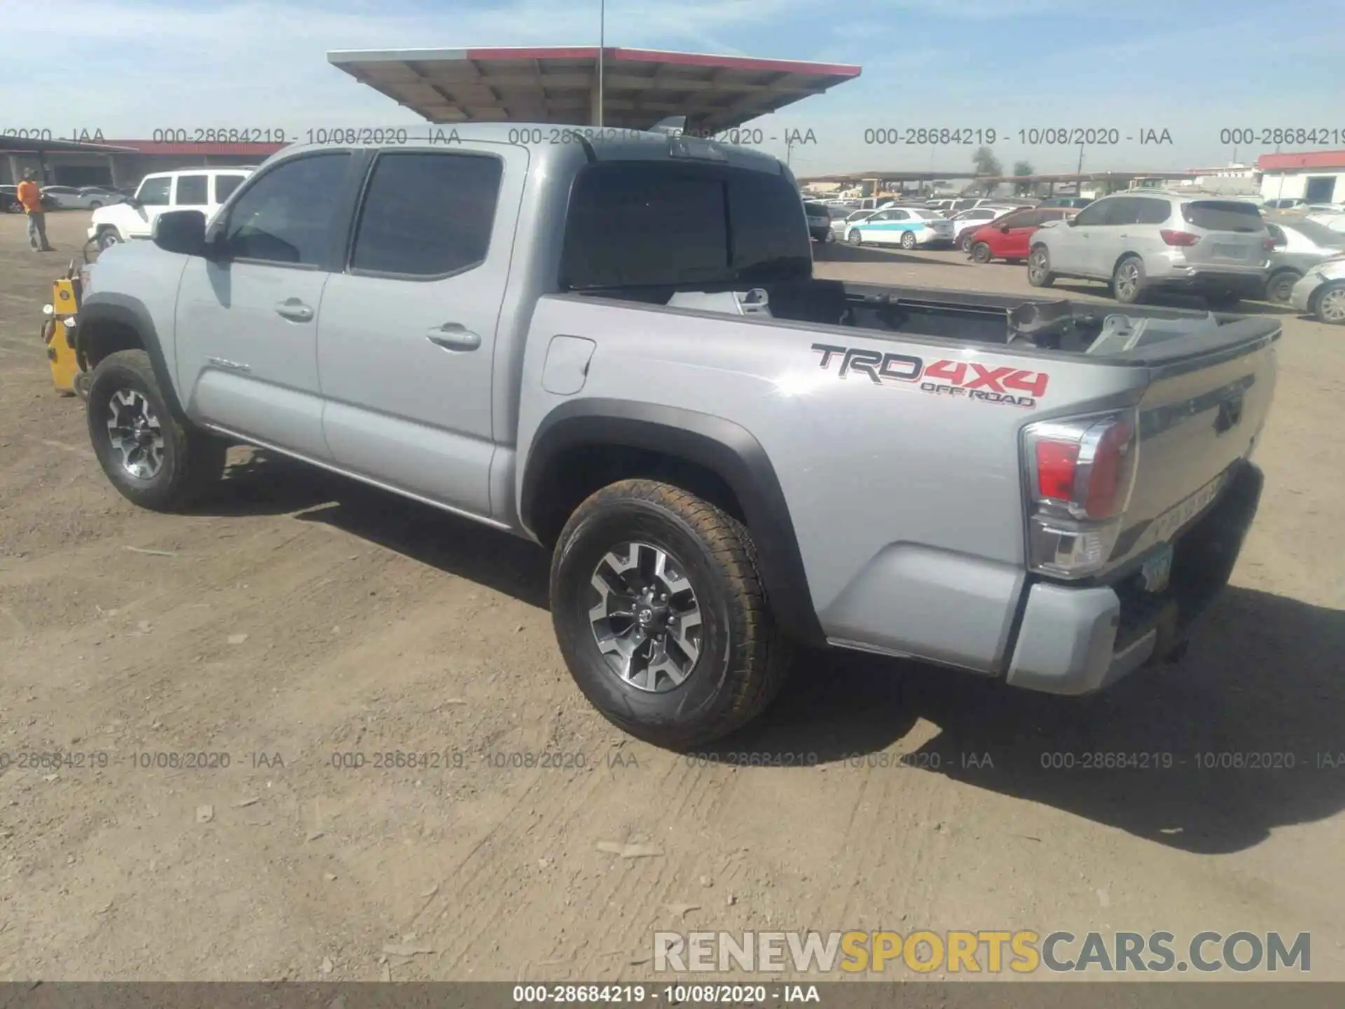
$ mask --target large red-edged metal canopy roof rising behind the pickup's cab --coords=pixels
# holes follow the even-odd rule
[[[334,66],[430,122],[596,124],[597,46],[338,50]],[[686,116],[724,130],[820,94],[859,67],[792,59],[603,50],[603,125],[648,129]]]

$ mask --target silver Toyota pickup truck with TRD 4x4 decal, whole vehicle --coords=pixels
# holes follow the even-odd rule
[[[551,549],[561,652],[651,741],[798,643],[1096,690],[1185,646],[1262,478],[1268,319],[812,277],[790,171],[675,133],[296,147],[93,265],[113,486],[260,445]]]

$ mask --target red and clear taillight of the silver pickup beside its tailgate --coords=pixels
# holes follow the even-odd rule
[[[1081,577],[1107,564],[1135,480],[1132,412],[1024,428],[1029,566]]]

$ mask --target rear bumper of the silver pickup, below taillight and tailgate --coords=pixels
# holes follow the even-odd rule
[[[1264,483],[1240,463],[1221,498],[1176,542],[1171,584],[1147,593],[1118,585],[1038,583],[1028,591],[1007,682],[1052,694],[1087,694],[1180,651],[1192,623],[1228,584]]]

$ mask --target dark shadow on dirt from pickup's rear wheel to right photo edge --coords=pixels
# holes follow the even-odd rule
[[[1345,612],[1228,588],[1178,665],[1068,698],[831,654],[724,751],[942,774],[1170,848],[1219,854],[1345,809]],[[845,764],[843,764],[845,765]],[[888,774],[889,771],[884,771]],[[1041,838],[1046,841],[1046,838]]]

